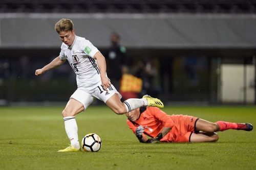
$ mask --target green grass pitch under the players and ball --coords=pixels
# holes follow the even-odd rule
[[[219,132],[216,143],[139,143],[125,115],[91,106],[76,116],[79,140],[87,133],[102,139],[99,152],[58,153],[69,140],[63,107],[1,107],[0,169],[256,169],[256,107],[172,106],[211,122],[249,122],[251,132]]]

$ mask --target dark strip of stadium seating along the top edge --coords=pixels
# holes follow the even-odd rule
[[[256,13],[256,0],[1,0],[0,13]]]

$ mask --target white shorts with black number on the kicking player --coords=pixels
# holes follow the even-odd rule
[[[108,91],[103,90],[101,82],[99,82],[97,85],[98,86],[96,86],[94,90],[90,90],[92,92],[89,92],[87,88],[78,87],[76,91],[70,96],[70,99],[73,98],[82,103],[85,110],[93,102],[94,98],[97,98],[104,103],[106,103],[106,101],[108,101],[115,93],[119,95],[120,99],[122,98],[122,95],[116,90],[113,84],[111,84],[111,86],[108,88]]]

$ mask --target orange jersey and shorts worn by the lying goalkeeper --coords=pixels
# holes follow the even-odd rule
[[[191,132],[195,130],[197,117],[187,115],[167,115],[157,107],[146,107],[135,122],[127,119],[127,125],[135,133],[138,126],[144,127],[143,136],[156,137],[163,127],[172,128],[160,141],[188,142]]]

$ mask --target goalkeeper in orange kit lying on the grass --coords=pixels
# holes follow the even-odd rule
[[[251,131],[248,123],[216,123],[188,115],[167,115],[156,107],[140,107],[126,113],[127,125],[140,142],[216,142],[218,131],[228,129]],[[146,137],[149,136],[151,138]]]

